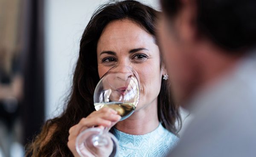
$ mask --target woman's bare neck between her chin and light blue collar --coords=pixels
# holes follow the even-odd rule
[[[116,128],[127,134],[147,134],[159,125],[157,117],[157,99],[144,108],[140,108],[125,120],[116,124]]]

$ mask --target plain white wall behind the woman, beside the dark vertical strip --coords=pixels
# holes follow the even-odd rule
[[[46,119],[62,111],[78,57],[79,40],[93,11],[105,1],[45,0]],[[140,1],[159,8],[158,0]]]

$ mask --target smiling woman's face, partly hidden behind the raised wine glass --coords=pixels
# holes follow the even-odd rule
[[[99,38],[97,60],[100,78],[115,65],[131,66],[137,71],[141,86],[137,110],[157,104],[165,71],[160,67],[159,48],[151,34],[131,20],[113,21]]]

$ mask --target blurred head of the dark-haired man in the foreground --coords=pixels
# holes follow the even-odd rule
[[[256,0],[160,0],[160,46],[175,98],[185,101],[256,43]]]

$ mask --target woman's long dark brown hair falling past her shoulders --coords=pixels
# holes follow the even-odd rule
[[[159,11],[134,0],[111,1],[100,6],[84,30],[80,42],[79,58],[73,77],[73,86],[66,108],[59,116],[47,120],[41,133],[27,148],[27,156],[72,157],[67,147],[70,127],[95,111],[93,92],[99,82],[96,47],[105,26],[113,20],[129,19],[154,37]],[[173,103],[168,81],[162,81],[157,98],[158,118],[168,131],[177,134],[181,127],[179,107]],[[178,122],[178,125],[175,123]],[[51,137],[45,142],[49,132]],[[43,144],[42,144],[43,143]]]

